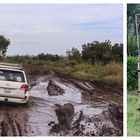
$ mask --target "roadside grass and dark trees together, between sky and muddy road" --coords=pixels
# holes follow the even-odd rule
[[[6,56],[5,62],[34,64],[46,67],[72,77],[101,81],[110,85],[123,85],[123,45],[112,45],[109,40],[93,41],[82,45],[80,52],[76,48],[67,50],[66,56],[52,54]]]

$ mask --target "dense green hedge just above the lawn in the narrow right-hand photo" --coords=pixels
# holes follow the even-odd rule
[[[137,58],[128,56],[127,59],[127,88],[134,90],[138,88]]]

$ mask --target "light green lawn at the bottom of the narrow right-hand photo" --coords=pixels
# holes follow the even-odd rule
[[[140,136],[140,113],[137,110],[137,91],[128,93],[127,109],[127,133],[129,136]]]

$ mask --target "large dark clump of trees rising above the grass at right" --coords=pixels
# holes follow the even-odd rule
[[[123,61],[123,45],[111,45],[109,40],[104,42],[94,41],[82,46],[83,61],[94,64],[95,62],[102,62],[107,64],[111,61]]]

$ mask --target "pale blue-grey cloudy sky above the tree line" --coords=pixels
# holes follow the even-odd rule
[[[63,54],[94,40],[123,42],[122,4],[0,4],[8,55]]]

